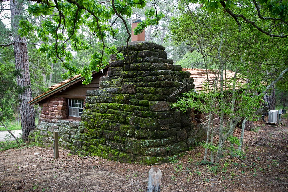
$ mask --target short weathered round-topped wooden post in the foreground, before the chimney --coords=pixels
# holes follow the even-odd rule
[[[153,167],[149,170],[148,176],[148,191],[161,192],[162,172],[159,168]]]

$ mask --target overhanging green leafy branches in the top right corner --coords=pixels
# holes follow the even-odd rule
[[[245,21],[249,23],[249,27],[267,35],[285,37],[288,34],[286,0],[238,1],[237,3],[231,0],[193,0],[191,2],[201,3],[209,12],[217,12],[217,9],[228,10],[229,14],[234,16],[235,22],[238,23],[239,31],[241,31],[241,24],[244,25]]]

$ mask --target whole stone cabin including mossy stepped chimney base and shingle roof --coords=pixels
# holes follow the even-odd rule
[[[112,55],[109,68],[93,72],[89,85],[77,75],[52,86],[29,102],[42,106],[29,140],[50,146],[58,131],[59,145],[72,154],[144,164],[170,162],[192,149],[205,130],[194,109],[182,113],[170,105],[180,93],[194,90],[192,71],[203,70],[185,71],[164,49],[151,42],[132,44],[128,60],[126,46],[118,47],[126,59]]]

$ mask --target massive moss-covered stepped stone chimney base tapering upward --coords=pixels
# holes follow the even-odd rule
[[[87,91],[79,139],[71,153],[152,164],[194,147],[203,132],[193,110],[171,109],[179,93],[194,89],[189,72],[166,59],[164,47],[144,42],[118,47],[99,90]],[[175,94],[177,93],[177,94]]]

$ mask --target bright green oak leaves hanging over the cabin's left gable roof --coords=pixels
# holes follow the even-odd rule
[[[145,0],[42,1],[29,5],[28,14],[35,17],[49,16],[49,19],[40,20],[38,26],[22,20],[18,32],[23,36],[35,30],[43,41],[39,48],[40,53],[45,52],[53,63],[59,60],[61,66],[69,71],[69,76],[81,73],[85,77],[83,84],[88,84],[92,81],[92,71],[99,71],[105,67],[110,54],[117,54],[118,58],[123,58],[115,46],[111,46],[114,42],[111,39],[127,37],[125,33],[127,34],[126,30],[130,28],[130,24],[126,23],[125,18],[132,16],[133,8],[143,8],[145,5]],[[147,9],[145,15],[147,19],[141,23],[142,28],[151,24],[157,25],[158,20],[164,17],[164,14],[156,12],[153,8]],[[119,27],[119,22],[124,25]],[[139,26],[139,30],[141,27]],[[137,29],[135,32],[137,33]],[[92,38],[87,38],[89,35]],[[91,49],[94,54],[89,54],[89,58],[81,67],[71,62],[73,54],[70,50],[79,52]]]

